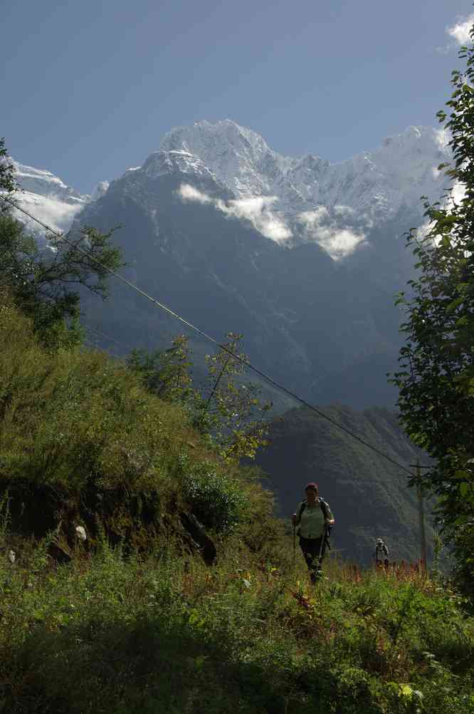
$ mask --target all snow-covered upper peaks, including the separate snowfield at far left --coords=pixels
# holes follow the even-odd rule
[[[131,179],[137,171],[150,178],[182,176],[182,200],[201,203],[207,201],[202,182],[220,186],[227,202],[216,195],[212,201],[223,213],[250,221],[288,247],[315,241],[339,260],[366,245],[370,229],[402,209],[421,216],[420,197],[436,200],[443,193],[446,179],[437,166],[449,158],[445,137],[430,127],[410,126],[378,149],[330,164],[315,154],[279,154],[255,131],[224,119],[172,129],[143,166],[128,169],[122,178]],[[102,181],[92,196],[84,196],[49,171],[15,166],[24,188],[17,200],[61,231],[109,187]]]

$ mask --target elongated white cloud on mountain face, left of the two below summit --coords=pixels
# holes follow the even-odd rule
[[[235,218],[246,218],[254,228],[262,233],[262,236],[270,238],[277,243],[284,243],[292,237],[292,231],[284,222],[283,218],[272,206],[278,200],[277,196],[255,196],[254,198],[232,199],[225,203],[221,199],[212,198],[207,193],[199,191],[189,183],[182,183],[177,190],[182,201],[194,201],[195,203],[212,204],[226,216]]]

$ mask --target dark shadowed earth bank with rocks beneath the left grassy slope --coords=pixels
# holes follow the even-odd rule
[[[6,492],[14,538],[48,537],[48,555],[55,563],[68,563],[78,550],[90,554],[104,536],[112,545],[120,543],[125,553],[151,552],[172,538],[200,553],[207,565],[217,558],[215,543],[197,518],[177,511],[175,503],[161,503],[157,494],[130,496],[123,488],[105,494],[93,483],[85,493],[71,494],[21,479],[2,480],[0,495]]]

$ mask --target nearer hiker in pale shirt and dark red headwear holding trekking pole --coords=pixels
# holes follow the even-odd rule
[[[308,483],[306,498],[293,513],[293,526],[299,526],[299,545],[308,566],[311,583],[321,577],[321,563],[328,543],[329,528],[334,526],[334,516],[329,503],[319,497],[317,483]]]

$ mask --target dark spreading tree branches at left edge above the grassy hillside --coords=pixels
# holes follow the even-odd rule
[[[0,191],[18,191],[14,166],[4,140],[0,140]],[[0,201],[0,285],[9,291],[21,310],[33,319],[43,343],[65,346],[79,343],[80,293],[86,287],[105,298],[109,269],[117,269],[120,250],[110,238],[84,227],[65,239],[46,233],[43,241],[33,236]],[[5,208],[6,206],[6,208]]]

